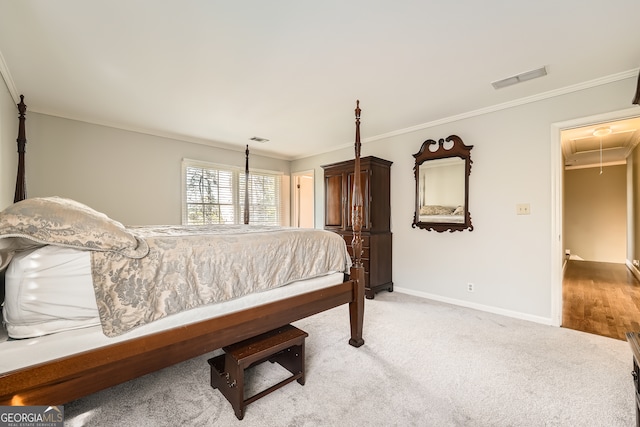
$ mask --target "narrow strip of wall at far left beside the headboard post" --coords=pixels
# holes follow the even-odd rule
[[[26,103],[26,100],[25,100]],[[18,170],[18,107],[0,77],[0,210],[13,203]],[[27,138],[28,140],[28,138]],[[29,144],[27,142],[27,151]]]

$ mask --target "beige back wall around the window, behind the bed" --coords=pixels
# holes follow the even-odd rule
[[[33,112],[26,131],[29,197],[69,197],[128,225],[180,224],[183,158],[241,168],[245,162],[244,147],[231,151]],[[255,154],[250,167],[290,173],[288,161]]]

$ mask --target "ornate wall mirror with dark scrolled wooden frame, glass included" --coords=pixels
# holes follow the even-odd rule
[[[413,155],[416,210],[412,227],[437,232],[473,230],[469,213],[472,148],[456,135],[422,143]]]

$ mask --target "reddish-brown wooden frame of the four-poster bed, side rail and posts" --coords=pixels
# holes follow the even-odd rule
[[[26,142],[24,136],[24,112],[26,108],[22,97],[20,104],[22,106],[19,106],[19,144],[21,140]],[[355,170],[358,171],[360,157],[359,103],[356,106],[355,124]],[[246,153],[248,157],[248,147]],[[26,189],[23,184],[24,144],[22,144],[20,162],[22,167],[18,169],[18,182],[22,190],[19,196],[18,185],[16,186],[16,202],[21,201],[20,197],[26,197]],[[359,173],[355,174],[356,181],[354,182],[354,194],[357,195],[361,194],[358,181],[359,175]],[[265,303],[262,296],[272,292],[271,290],[266,291],[260,294],[260,298],[254,298],[257,303],[250,303],[240,308],[231,308],[215,317],[200,318],[195,315],[195,320],[192,319],[186,324],[172,325],[165,329],[159,328],[159,330],[148,334],[139,332],[142,328],[155,324],[155,322],[152,322],[150,325],[144,325],[140,329],[114,338],[114,343],[108,341],[111,338],[102,337],[98,342],[103,343],[107,340],[109,343],[105,345],[99,344],[94,348],[76,352],[69,350],[72,351],[71,354],[59,355],[45,361],[27,363],[26,366],[16,369],[0,370],[0,405],[63,404],[342,304],[348,304],[349,306],[349,344],[355,347],[363,345],[364,270],[360,261],[362,254],[362,240],[360,237],[362,200],[354,198],[353,203],[354,263],[349,270],[348,278],[345,274],[340,276],[338,283],[328,286],[322,285],[311,288],[311,290],[300,288],[302,290],[287,296],[274,297],[270,302]],[[245,212],[248,212],[248,210],[245,210]],[[98,252],[91,253],[93,255]],[[256,254],[256,256],[264,258],[264,254]],[[282,286],[274,289],[273,292],[282,291],[290,286],[294,287],[294,285],[295,283]],[[254,295],[248,295],[246,298],[251,297],[254,297]],[[238,298],[235,301],[242,300],[243,298]],[[231,302],[233,303],[234,301]],[[217,306],[217,304],[212,304],[212,306]],[[191,309],[187,313],[199,313],[199,310],[205,309],[208,309],[208,306]],[[72,349],[74,339],[75,341],[86,341],[82,338],[82,333],[82,329],[77,329],[41,338],[5,341],[0,343],[0,349],[4,345],[9,348],[8,346],[13,346],[14,344],[14,347],[23,345],[25,350],[31,353],[37,353],[39,345],[49,345],[58,349],[68,345]],[[60,338],[60,341],[55,341],[56,337],[62,337],[64,334],[71,337],[69,341],[65,341],[62,338]],[[128,334],[132,334],[131,337]],[[3,351],[2,354],[6,359],[18,358],[21,353],[17,350],[13,352]],[[203,378],[203,381],[206,380],[206,378]]]

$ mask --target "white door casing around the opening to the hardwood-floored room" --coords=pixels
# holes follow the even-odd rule
[[[596,116],[584,117],[562,123],[555,123],[551,126],[551,171],[552,171],[552,262],[551,262],[551,315],[552,323],[555,326],[562,326],[563,314],[563,277],[566,266],[566,253],[564,242],[564,153],[562,149],[561,133],[566,130],[576,128],[591,127],[599,124],[616,122],[631,119],[638,116],[637,108],[625,109],[617,112],[606,113]],[[628,154],[628,153],[627,153]],[[629,209],[628,209],[629,211]],[[628,217],[631,217],[628,214]],[[629,231],[632,233],[633,221],[627,221]],[[627,245],[627,259],[629,254]]]

